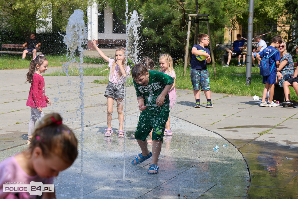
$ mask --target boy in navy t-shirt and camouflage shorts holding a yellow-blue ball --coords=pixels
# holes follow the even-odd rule
[[[205,46],[209,45],[209,36],[207,34],[200,34],[198,36],[198,41],[199,45],[194,45],[191,50],[193,57],[190,62],[190,79],[193,84],[193,94],[195,95],[195,108],[200,108],[200,89],[204,91],[207,99],[205,108],[212,108],[209,72],[207,70],[207,63],[211,62],[211,57],[209,49],[205,48]],[[195,55],[206,56],[206,59],[199,61]]]

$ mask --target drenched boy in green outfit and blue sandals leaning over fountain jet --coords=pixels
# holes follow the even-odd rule
[[[148,174],[157,174],[158,157],[162,149],[164,127],[169,117],[170,99],[168,92],[174,79],[162,72],[147,71],[143,64],[136,64],[131,70],[134,78],[136,97],[142,111],[134,134],[142,153],[134,158],[132,165],[144,162],[152,156]],[[148,150],[147,136],[152,132],[152,153]]]

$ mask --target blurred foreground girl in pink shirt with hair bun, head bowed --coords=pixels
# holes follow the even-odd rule
[[[27,150],[0,163],[0,198],[36,198],[31,189],[24,192],[6,192],[7,185],[30,185],[32,181],[53,184],[54,177],[67,169],[77,158],[77,139],[64,124],[58,113],[44,116],[36,128]],[[55,198],[52,192],[44,192],[43,198]],[[14,190],[13,190],[14,191]]]

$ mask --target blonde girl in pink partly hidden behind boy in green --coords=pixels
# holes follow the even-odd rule
[[[176,103],[177,94],[175,89],[176,73],[173,68],[173,59],[171,55],[169,54],[161,55],[159,57],[159,64],[160,64],[160,67],[162,68],[161,72],[174,78],[173,86],[171,90],[168,92],[169,98],[170,98],[170,109],[172,109]],[[170,128],[170,116],[164,130],[165,130],[164,135],[173,135],[172,130]]]

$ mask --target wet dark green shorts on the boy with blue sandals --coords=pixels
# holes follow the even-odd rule
[[[164,137],[164,127],[168,118],[169,112],[161,111],[153,116],[149,111],[143,111],[139,117],[134,138],[136,138],[136,140],[145,141],[151,129],[153,129],[152,140],[162,141]]]

